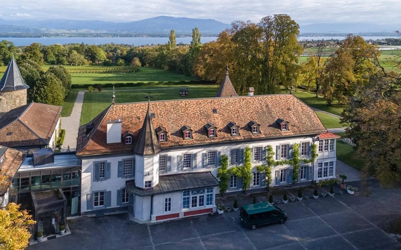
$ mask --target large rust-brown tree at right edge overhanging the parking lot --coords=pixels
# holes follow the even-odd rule
[[[342,122],[346,136],[356,144],[363,173],[383,185],[401,184],[401,83],[399,75],[375,74],[350,98]]]

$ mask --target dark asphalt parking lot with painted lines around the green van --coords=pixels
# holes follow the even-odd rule
[[[288,192],[288,197],[294,194],[294,191],[285,192]],[[310,190],[305,189],[304,195],[308,192]],[[256,230],[243,227],[239,212],[150,225],[136,224],[128,219],[128,214],[81,217],[69,221],[71,235],[35,244],[28,249],[399,250],[401,244],[382,228],[386,221],[395,218],[391,212],[397,211],[396,215],[401,216],[401,204],[393,202],[380,210],[382,204],[379,200],[384,202],[383,205],[389,201],[383,197],[386,194],[389,200],[394,194],[398,200],[401,198],[399,190],[373,186],[369,197],[336,194],[334,198],[280,204],[279,207],[288,214],[288,221]],[[235,198],[241,206],[251,203],[253,196]],[[258,194],[257,198],[267,199],[263,194]],[[232,206],[233,199],[228,197],[218,202]]]

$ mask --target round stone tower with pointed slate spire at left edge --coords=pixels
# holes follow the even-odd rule
[[[8,111],[26,104],[27,88],[29,86],[22,79],[13,56],[0,80],[0,118]]]

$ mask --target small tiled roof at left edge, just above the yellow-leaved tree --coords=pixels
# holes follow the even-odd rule
[[[1,149],[6,147],[0,146]],[[12,148],[6,148],[6,152],[4,161],[0,164],[0,175],[5,175],[8,178],[3,180],[4,182],[0,183],[0,194],[3,194],[7,191],[9,183],[7,185],[5,182],[10,182],[12,178],[14,178],[18,168],[21,166],[22,161],[26,156],[25,151],[20,151]]]

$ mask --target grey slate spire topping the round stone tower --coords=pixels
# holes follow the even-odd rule
[[[29,88],[22,79],[20,70],[12,54],[11,62],[0,80],[0,91],[14,91]]]

